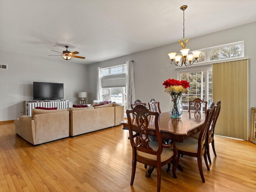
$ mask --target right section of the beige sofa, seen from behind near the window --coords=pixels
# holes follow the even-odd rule
[[[86,108],[69,108],[70,136],[76,136],[121,124],[124,106],[115,103]]]

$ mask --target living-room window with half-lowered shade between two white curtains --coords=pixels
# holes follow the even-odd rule
[[[102,68],[102,100],[126,106],[126,64]]]

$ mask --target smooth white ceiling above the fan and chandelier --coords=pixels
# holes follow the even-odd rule
[[[256,0],[0,0],[0,51],[93,64],[178,44],[182,5],[185,38],[256,22]],[[65,45],[86,59],[48,56]]]

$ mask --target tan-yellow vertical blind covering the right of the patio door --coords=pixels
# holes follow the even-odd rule
[[[212,92],[221,101],[214,134],[248,140],[248,59],[213,64]]]

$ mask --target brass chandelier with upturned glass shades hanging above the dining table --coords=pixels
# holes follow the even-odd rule
[[[188,6],[183,5],[180,7],[180,9],[183,11],[183,41],[178,40],[182,50],[180,50],[180,52],[182,53],[182,55],[176,55],[176,52],[172,52],[169,53],[168,56],[170,56],[170,60],[171,60],[171,64],[175,64],[176,66],[181,67],[183,64],[185,66],[190,66],[192,65],[194,62],[197,63],[198,62],[198,57],[201,53],[201,51],[193,51],[192,54],[188,54],[190,49],[186,49],[186,46],[189,44],[188,40],[185,40],[185,27],[184,27],[184,11],[186,10],[186,8],[188,8]],[[194,58],[194,59],[193,59]],[[174,61],[175,59],[175,61]]]

